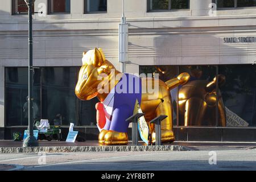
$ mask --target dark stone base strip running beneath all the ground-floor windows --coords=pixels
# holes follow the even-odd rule
[[[27,127],[0,128],[0,139],[13,140],[13,133],[22,134]],[[98,128],[75,127],[79,131],[79,137],[86,140],[98,140]],[[67,138],[69,127],[61,127],[62,140]],[[216,127],[174,127],[176,141],[217,141],[217,142],[256,142],[256,129],[250,128],[216,128]],[[128,137],[131,140],[131,128],[128,129]],[[140,137],[139,137],[139,140]]]

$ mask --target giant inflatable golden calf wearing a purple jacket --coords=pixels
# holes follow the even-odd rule
[[[94,97],[100,100],[96,105],[97,125],[101,130],[99,144],[127,144],[129,123],[125,120],[133,115],[137,103],[141,106],[147,122],[158,115],[168,116],[161,125],[161,139],[163,143],[167,143],[175,140],[170,90],[186,84],[189,77],[188,73],[181,73],[178,77],[163,82],[156,78],[121,73],[106,60],[101,49],[95,48],[83,53],[75,93],[80,100]],[[149,125],[149,128],[154,142],[154,125]]]

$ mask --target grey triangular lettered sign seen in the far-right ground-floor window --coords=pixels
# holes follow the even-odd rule
[[[244,119],[240,118],[236,113],[229,110],[228,107],[225,107],[226,110],[226,126],[233,127],[247,127],[249,123],[247,123]]]

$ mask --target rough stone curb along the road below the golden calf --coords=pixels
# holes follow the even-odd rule
[[[168,146],[63,146],[63,147],[0,147],[0,154],[37,152],[118,152],[118,151],[191,151],[178,145]]]

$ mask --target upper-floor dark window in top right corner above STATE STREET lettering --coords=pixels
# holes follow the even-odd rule
[[[218,8],[236,8],[256,6],[256,0],[213,0]]]

